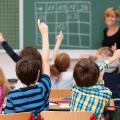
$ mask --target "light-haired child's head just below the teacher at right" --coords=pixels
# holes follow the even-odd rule
[[[96,58],[97,60],[102,60],[106,57],[112,57],[113,52],[109,47],[102,47],[97,50]]]

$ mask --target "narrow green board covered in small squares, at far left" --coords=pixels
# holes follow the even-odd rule
[[[0,0],[0,32],[19,49],[19,0]]]

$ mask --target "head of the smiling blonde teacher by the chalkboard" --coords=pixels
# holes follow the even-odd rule
[[[108,26],[116,25],[119,19],[120,12],[116,8],[110,7],[104,13],[104,20]]]

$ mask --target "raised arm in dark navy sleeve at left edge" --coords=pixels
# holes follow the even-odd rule
[[[13,51],[11,46],[5,41],[4,36],[0,33],[0,44],[2,45],[3,49],[6,53],[11,57],[14,62],[17,62],[21,57]]]

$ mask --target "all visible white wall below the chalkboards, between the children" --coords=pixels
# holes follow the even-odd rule
[[[18,51],[17,51],[18,52]],[[40,51],[41,52],[41,51]],[[61,52],[66,52],[71,57],[71,69],[73,69],[76,60],[80,57],[87,57],[88,55],[95,55],[96,50],[60,50]],[[50,51],[50,58],[53,58],[53,50]],[[15,73],[15,63],[12,59],[3,51],[0,51],[0,67],[3,69],[7,79],[17,78]]]

